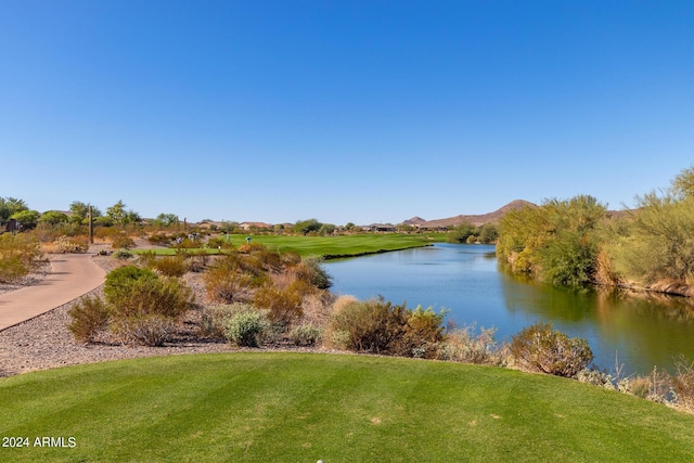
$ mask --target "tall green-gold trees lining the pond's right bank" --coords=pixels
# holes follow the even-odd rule
[[[507,214],[497,256],[513,272],[558,285],[647,287],[694,295],[694,166],[669,188],[609,213],[589,195]]]

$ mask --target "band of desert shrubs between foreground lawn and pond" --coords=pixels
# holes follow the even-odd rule
[[[693,366],[682,360],[670,376],[654,371],[624,377],[597,371],[586,339],[538,323],[498,343],[494,330],[454,326],[446,310],[410,308],[384,298],[336,297],[316,258],[244,244],[216,256],[143,253],[118,261],[104,296],[70,311],[80,343],[175,345],[183,318],[196,336],[237,348],[329,349],[487,364],[539,372],[619,390],[690,410]],[[197,282],[197,283],[194,283]],[[189,284],[200,290],[197,297]],[[192,317],[190,314],[193,314]]]

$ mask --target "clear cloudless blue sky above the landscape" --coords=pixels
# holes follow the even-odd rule
[[[0,0],[0,196],[343,224],[694,164],[694,1]]]

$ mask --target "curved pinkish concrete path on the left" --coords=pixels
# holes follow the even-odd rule
[[[52,271],[40,283],[0,294],[0,331],[53,310],[102,284],[105,272],[91,256],[51,255]]]

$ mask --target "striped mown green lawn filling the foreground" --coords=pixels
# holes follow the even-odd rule
[[[458,462],[694,459],[694,416],[517,371],[236,352],[0,380],[0,461]]]

